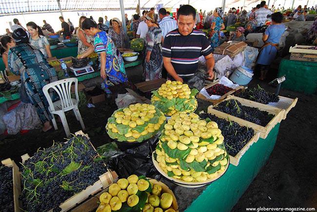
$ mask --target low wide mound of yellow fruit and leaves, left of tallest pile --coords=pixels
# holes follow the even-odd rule
[[[141,142],[161,132],[166,117],[154,105],[132,104],[108,118],[108,135],[118,141]]]

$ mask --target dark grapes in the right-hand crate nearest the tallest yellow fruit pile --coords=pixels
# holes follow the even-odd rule
[[[215,121],[224,137],[224,146],[231,156],[236,156],[238,152],[251,140],[254,136],[252,128],[240,126],[237,122],[219,118],[212,114],[200,114],[200,118]]]

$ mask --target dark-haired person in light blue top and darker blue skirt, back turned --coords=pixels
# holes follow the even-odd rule
[[[257,63],[260,67],[260,80],[264,80],[269,71],[269,67],[277,55],[278,43],[285,31],[285,25],[282,24],[283,15],[280,12],[272,14],[272,25],[269,26],[264,35],[264,45],[261,48]]]

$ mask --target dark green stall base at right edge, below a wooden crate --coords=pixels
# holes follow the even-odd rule
[[[317,92],[317,62],[282,59],[278,77],[286,75],[282,88],[314,94]]]

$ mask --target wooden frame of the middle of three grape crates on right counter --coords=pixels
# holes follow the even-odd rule
[[[261,111],[266,111],[269,114],[274,115],[274,117],[271,119],[271,121],[265,127],[263,127],[263,126],[260,126],[258,124],[252,123],[250,121],[246,121],[242,118],[238,118],[236,116],[232,116],[232,115],[229,115],[229,114],[226,114],[226,113],[223,113],[221,111],[214,109],[214,107],[216,107],[219,103],[216,105],[210,105],[208,107],[208,113],[214,114],[216,116],[223,117],[223,118],[229,118],[230,120],[235,121],[238,124],[241,124],[241,125],[246,126],[246,127],[251,127],[254,130],[260,132],[260,137],[263,139],[266,138],[266,136],[270,133],[270,131],[275,127],[275,125],[277,123],[279,123],[282,120],[283,116],[285,115],[284,109],[275,108],[275,107],[272,107],[269,105],[261,104],[261,103],[251,101],[248,99],[244,99],[244,98],[240,98],[237,96],[228,96],[226,99],[224,99],[224,101],[230,100],[230,99],[236,99],[244,106],[255,107]]]

